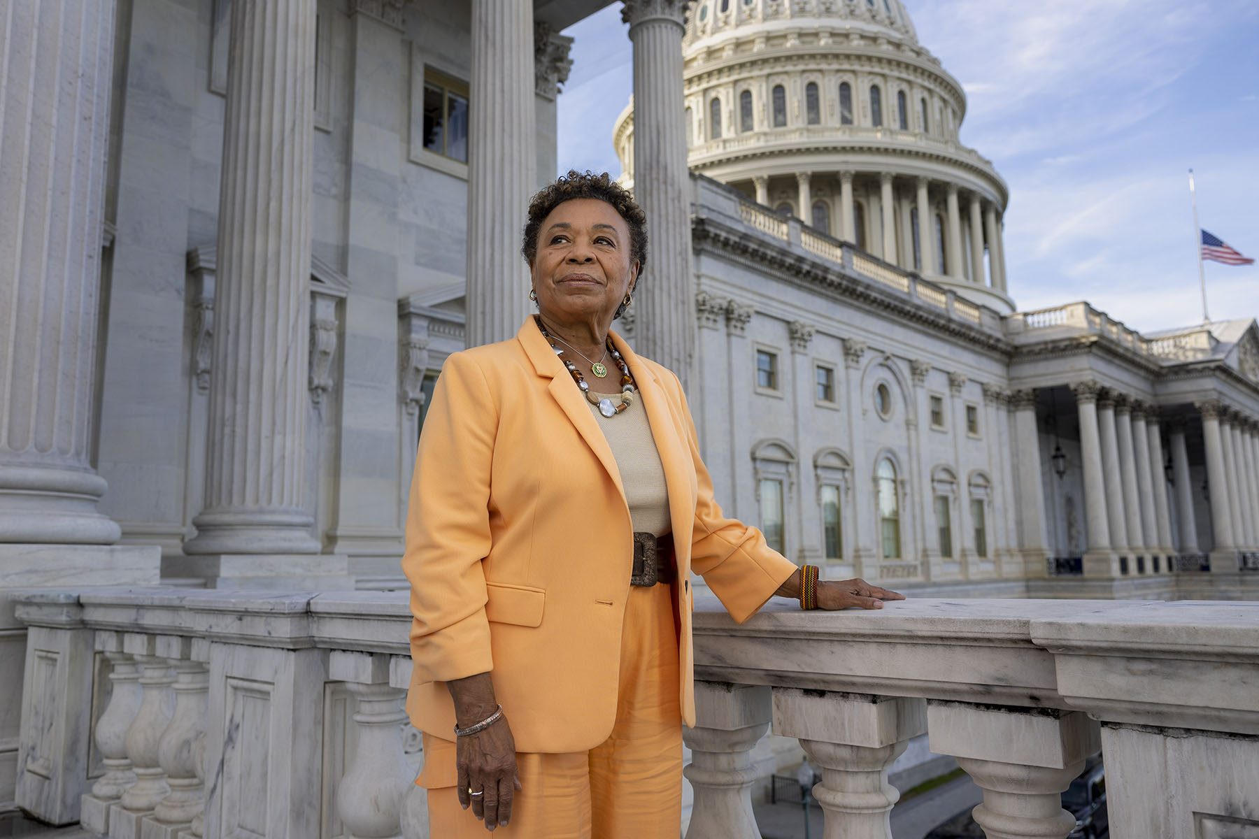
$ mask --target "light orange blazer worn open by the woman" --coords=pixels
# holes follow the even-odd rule
[[[612,335],[647,410],[677,553],[681,708],[695,725],[690,575],[739,623],[796,570],[725,518],[670,370]],[[453,737],[446,682],[488,672],[522,752],[587,751],[612,732],[633,537],[603,431],[530,317],[456,352],[437,380],[410,486],[407,712]]]

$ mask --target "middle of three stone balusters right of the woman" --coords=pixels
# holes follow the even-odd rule
[[[888,769],[927,731],[923,699],[776,688],[773,723],[822,766],[813,797],[826,814],[823,839],[890,839],[900,792]]]

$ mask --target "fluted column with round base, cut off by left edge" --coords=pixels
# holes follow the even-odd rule
[[[0,542],[121,535],[88,460],[113,19],[113,0],[0,10]]]

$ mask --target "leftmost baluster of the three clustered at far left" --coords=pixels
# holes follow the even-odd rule
[[[104,775],[96,780],[92,791],[79,804],[79,824],[104,835],[110,830],[110,805],[136,782],[131,760],[127,757],[126,735],[140,709],[140,668],[136,659],[122,652],[122,636],[117,633],[96,633],[96,649],[104,653],[111,664],[110,704],[96,721],[93,736],[104,762]]]

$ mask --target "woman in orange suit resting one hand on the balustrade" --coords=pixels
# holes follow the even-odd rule
[[[538,314],[447,358],[410,488],[407,711],[429,835],[675,839],[691,572],[740,623],[772,595],[901,597],[818,582],[721,514],[677,377],[611,331],[647,258],[626,190],[560,177],[522,252]]]

